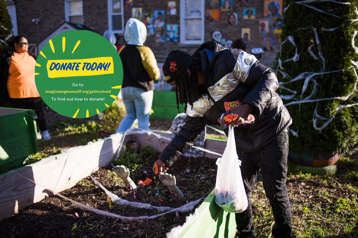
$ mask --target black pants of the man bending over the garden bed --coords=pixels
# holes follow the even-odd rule
[[[262,172],[263,188],[274,213],[275,225],[272,236],[291,237],[291,207],[286,187],[287,154],[289,148],[288,132],[269,145],[255,152],[237,151],[241,163],[241,174],[248,199],[248,207],[241,213],[235,213],[239,237],[255,237],[252,218],[251,192],[255,186],[257,172]]]

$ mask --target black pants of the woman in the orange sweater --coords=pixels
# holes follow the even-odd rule
[[[10,103],[14,108],[35,110],[40,131],[43,132],[47,130],[45,115],[42,111],[41,97],[10,98]]]

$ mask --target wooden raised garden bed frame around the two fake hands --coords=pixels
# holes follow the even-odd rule
[[[163,137],[170,133],[158,132]],[[51,196],[71,188],[76,183],[110,164],[120,149],[121,142],[134,140],[139,142],[140,149],[151,146],[158,152],[163,151],[169,141],[155,135],[132,134],[112,135],[110,138],[89,145],[69,149],[59,155],[50,156],[29,166],[0,175],[0,221],[13,216],[14,213]],[[206,139],[205,148],[223,153],[225,140]],[[217,155],[204,152],[204,157],[217,159]],[[26,178],[25,178],[26,177]],[[28,178],[28,179],[27,179]],[[35,181],[34,184],[29,179]],[[46,189],[48,188],[48,189]],[[214,202],[214,190],[198,207],[199,218],[187,224],[178,237],[234,237],[236,223],[234,213],[227,213]]]

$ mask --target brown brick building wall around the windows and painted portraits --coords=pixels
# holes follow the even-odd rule
[[[219,22],[205,22],[205,41],[212,40],[211,32],[220,30],[223,38],[227,40],[236,40],[241,37],[242,27],[251,29],[251,44],[247,46],[246,51],[250,52],[252,47],[263,47],[263,37],[273,37],[273,50],[265,51],[260,61],[267,66],[274,64],[276,52],[279,50],[279,34],[272,34],[272,23],[270,24],[269,34],[259,34],[259,20],[270,20],[272,18],[263,18],[263,0],[251,0],[247,7],[256,8],[255,20],[243,20],[243,7],[240,7],[239,0],[233,1],[233,11],[238,14],[238,25],[228,26],[228,12],[220,11]],[[168,0],[135,0],[134,7],[142,7],[143,13],[153,12],[154,10],[165,10],[168,6]],[[165,24],[178,24],[180,28],[180,3],[176,0],[176,15],[165,14]],[[64,21],[64,0],[15,0],[16,14],[18,19],[19,35],[25,36],[30,43],[38,42],[37,25],[31,20],[39,17],[40,21],[40,41],[45,39],[49,34],[56,30]],[[205,1],[205,10],[220,9],[219,7],[211,8],[209,1]],[[132,7],[124,8],[124,24],[131,17]],[[205,14],[205,12],[203,12]],[[103,34],[108,29],[108,12],[106,0],[84,0],[83,1],[83,19],[84,25],[93,29],[98,34]],[[180,29],[179,29],[180,31]],[[121,37],[121,44],[125,44],[124,37]],[[149,46],[158,62],[163,62],[168,53],[173,49],[180,49],[192,54],[198,45],[182,45],[179,42],[156,43],[154,36],[149,36],[146,43]]]

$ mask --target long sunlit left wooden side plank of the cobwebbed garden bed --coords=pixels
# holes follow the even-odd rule
[[[120,149],[123,136],[118,134],[86,146],[74,147],[59,155],[1,174],[0,221],[52,195],[48,189],[61,192],[71,188],[100,167],[110,164]],[[124,143],[130,138],[130,135],[126,136]]]

